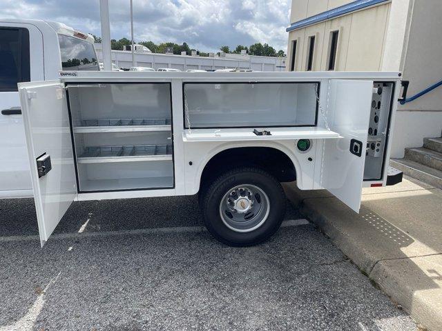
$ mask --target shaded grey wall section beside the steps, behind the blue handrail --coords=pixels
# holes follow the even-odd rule
[[[405,38],[401,71],[410,80],[408,96],[442,80],[442,5],[440,0],[410,1],[410,30]],[[441,137],[442,87],[399,106],[392,155],[405,147],[420,147],[425,137]]]

